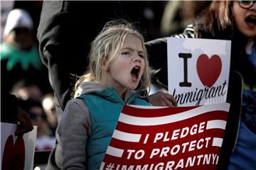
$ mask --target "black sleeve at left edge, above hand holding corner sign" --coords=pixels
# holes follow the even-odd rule
[[[1,96],[1,122],[17,123],[18,99],[4,92]]]

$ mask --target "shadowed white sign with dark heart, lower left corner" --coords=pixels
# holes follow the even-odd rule
[[[14,135],[18,125],[1,123],[1,169],[33,169],[37,126],[23,136]]]

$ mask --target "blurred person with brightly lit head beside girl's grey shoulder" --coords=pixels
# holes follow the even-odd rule
[[[43,96],[42,100],[43,111],[46,113],[46,118],[49,124],[51,136],[55,136],[55,130],[58,125],[58,118],[53,98],[53,93],[49,93]]]

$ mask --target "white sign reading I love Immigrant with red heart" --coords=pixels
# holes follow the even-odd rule
[[[226,102],[230,40],[168,38],[168,90],[178,106]]]

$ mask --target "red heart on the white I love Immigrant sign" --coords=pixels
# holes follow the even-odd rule
[[[208,57],[208,55],[200,55],[196,62],[198,77],[204,86],[211,87],[220,76],[221,59],[218,55]]]

